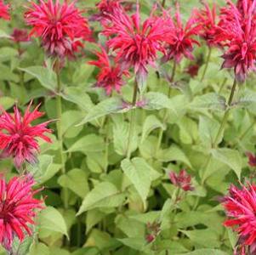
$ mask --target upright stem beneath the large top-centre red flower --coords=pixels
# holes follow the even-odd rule
[[[131,157],[131,144],[132,144],[132,139],[133,139],[133,136],[134,136],[137,96],[138,96],[138,82],[135,79],[134,95],[133,95],[133,107],[134,107],[134,109],[131,110],[131,119],[130,119],[130,125],[129,125],[129,133],[128,133],[128,145],[127,145],[127,153],[126,153],[126,156],[127,156],[128,159]]]

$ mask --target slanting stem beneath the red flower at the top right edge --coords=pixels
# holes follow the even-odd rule
[[[235,92],[236,92],[236,78],[235,78],[233,86],[231,88],[230,98],[229,98],[229,101],[228,101],[228,107],[225,110],[225,114],[224,114],[224,116],[222,118],[222,122],[220,124],[219,131],[218,131],[215,139],[213,140],[213,146],[212,146],[213,149],[218,148],[219,139],[221,138],[222,133],[224,132],[225,125],[226,125],[226,123],[228,121],[228,118],[229,118],[229,115],[230,115],[230,106],[232,105],[232,101],[234,99]],[[202,167],[202,169],[205,170],[204,174],[202,174],[202,184],[204,184],[204,182],[206,181],[205,173],[207,173],[206,169],[208,168],[208,165],[209,165],[210,161],[211,161],[211,155],[208,156],[206,164],[204,165],[204,167]]]

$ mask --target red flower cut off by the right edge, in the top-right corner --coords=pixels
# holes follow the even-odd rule
[[[244,2],[248,2],[244,1]],[[228,49],[223,54],[223,68],[234,68],[236,80],[244,82],[247,73],[255,68],[256,59],[256,20],[253,17],[255,4],[238,9],[233,3],[222,9],[221,26],[229,39]]]

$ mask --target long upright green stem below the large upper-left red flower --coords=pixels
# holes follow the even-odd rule
[[[56,76],[57,76],[57,98],[56,98],[56,108],[57,108],[57,135],[59,141],[59,153],[60,153],[60,165],[61,165],[61,173],[65,174],[65,160],[64,160],[64,153],[63,153],[63,135],[62,135],[62,128],[61,128],[61,120],[62,120],[62,101],[61,101],[61,81],[60,81],[60,60],[56,60]],[[66,188],[63,189],[64,192],[64,207],[65,209],[68,207],[68,190]]]

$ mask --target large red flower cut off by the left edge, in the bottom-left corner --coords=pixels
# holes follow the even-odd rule
[[[31,187],[35,181],[31,176],[14,177],[9,183],[0,179],[0,243],[7,249],[12,246],[14,236],[23,241],[26,234],[32,235],[29,225],[35,224],[36,209],[42,209],[42,202],[33,198],[39,191]]]

